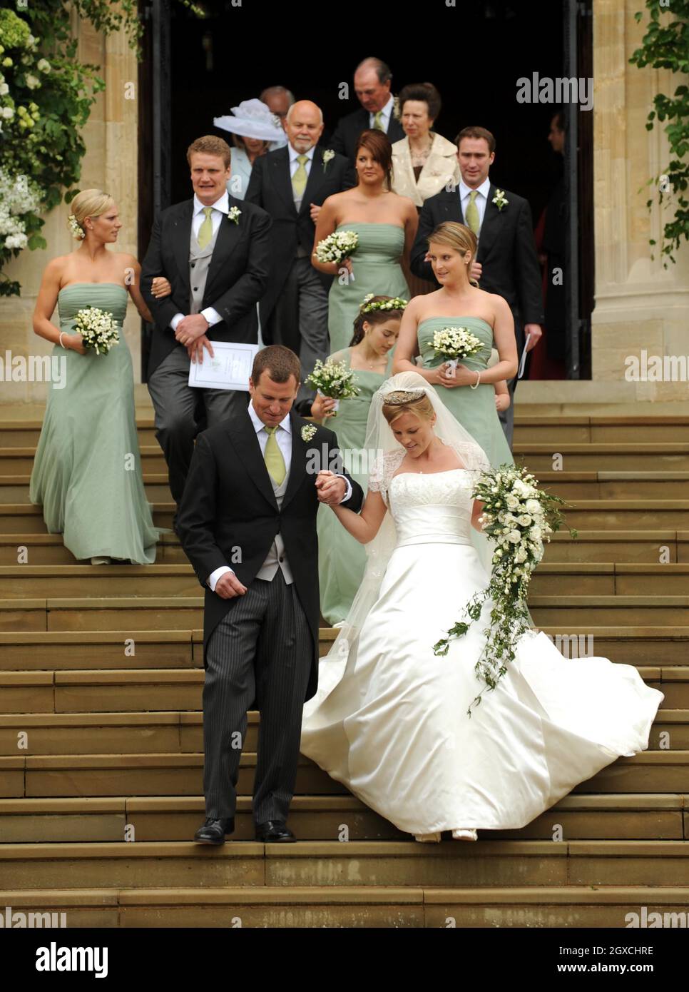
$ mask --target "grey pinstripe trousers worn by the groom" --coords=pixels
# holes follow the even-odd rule
[[[213,631],[203,685],[203,792],[209,818],[234,816],[247,710],[256,698],[261,724],[254,820],[287,820],[311,653],[311,633],[295,586],[287,585],[280,568],[270,582],[255,578]]]

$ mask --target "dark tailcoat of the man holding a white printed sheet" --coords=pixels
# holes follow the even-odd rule
[[[265,210],[230,195],[232,206],[242,211],[239,223],[227,217],[220,221],[201,309],[213,307],[223,318],[209,328],[212,340],[256,344],[259,327],[256,303],[268,284],[272,221]],[[169,206],[156,218],[142,265],[141,291],[156,321],[149,378],[172,348],[183,347],[174,339],[170,321],[175,313],[189,311],[192,212],[193,199],[186,199]],[[156,300],[151,295],[154,276],[166,276],[170,280],[171,296]]]

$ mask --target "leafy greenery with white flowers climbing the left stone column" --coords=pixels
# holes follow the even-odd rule
[[[191,0],[178,0],[199,17]],[[124,31],[141,55],[137,0],[31,0],[0,10],[0,296],[21,287],[3,269],[25,248],[45,248],[40,216],[78,192],[81,130],[105,88],[99,66],[76,59],[72,17],[108,35]]]

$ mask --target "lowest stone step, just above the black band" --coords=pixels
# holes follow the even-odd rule
[[[0,892],[14,912],[68,928],[610,928],[682,926],[682,886],[245,886]],[[59,915],[64,914],[61,918]],[[653,914],[657,914],[654,916]],[[57,926],[56,923],[56,926]]]

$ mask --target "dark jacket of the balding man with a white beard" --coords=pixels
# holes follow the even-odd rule
[[[298,213],[291,190],[287,148],[269,152],[254,162],[244,202],[263,207],[273,218],[271,278],[261,301],[261,324],[264,327],[285,285],[297,247],[303,248],[309,256],[313,250],[315,225],[310,216],[310,204],[320,206],[332,193],[349,189],[355,184],[354,170],[344,156],[336,155],[323,164],[324,151],[318,145],[315,148]],[[332,276],[321,272],[318,276],[325,289],[329,289]]]

